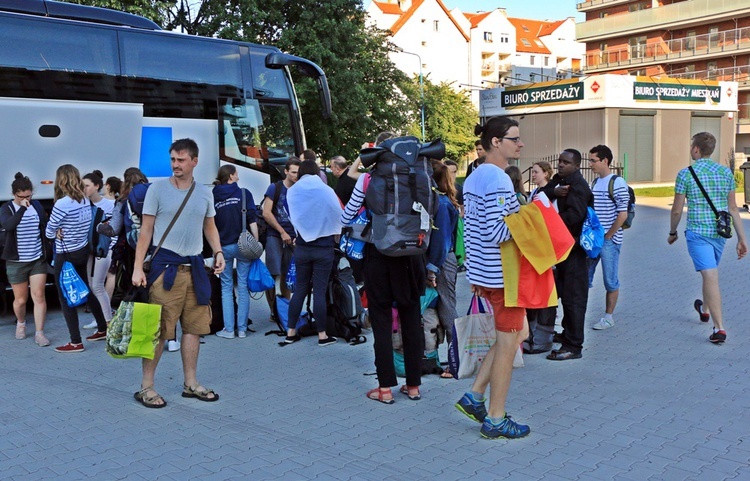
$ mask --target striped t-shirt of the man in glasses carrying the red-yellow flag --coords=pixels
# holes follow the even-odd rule
[[[464,183],[466,277],[482,287],[505,287],[500,243],[510,239],[505,224],[520,204],[513,182],[503,169],[484,163]]]

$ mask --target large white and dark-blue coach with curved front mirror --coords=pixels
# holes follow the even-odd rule
[[[167,32],[115,10],[0,0],[0,200],[17,171],[35,198],[52,199],[66,163],[82,175],[136,166],[167,177],[170,143],[190,137],[199,182],[231,163],[259,202],[305,148],[289,66],[317,82],[328,117],[323,70],[277,48]]]

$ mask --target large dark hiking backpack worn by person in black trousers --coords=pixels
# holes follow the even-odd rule
[[[423,145],[416,137],[388,139],[362,151],[362,163],[375,164],[365,205],[372,217],[372,243],[384,255],[413,256],[427,251],[438,208],[428,157],[444,155],[440,139]]]

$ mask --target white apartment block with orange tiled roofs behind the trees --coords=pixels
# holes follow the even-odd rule
[[[391,60],[409,74],[452,82],[472,92],[578,73],[585,47],[575,40],[572,18],[540,21],[508,17],[504,8],[464,13],[441,0],[372,1],[370,21],[391,32],[400,52]]]

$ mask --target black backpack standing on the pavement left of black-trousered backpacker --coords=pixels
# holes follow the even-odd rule
[[[354,281],[352,268],[343,253],[337,251],[338,262],[328,280],[326,304],[328,305],[328,323],[326,331],[341,337],[351,345],[367,341],[362,336],[364,309]]]

